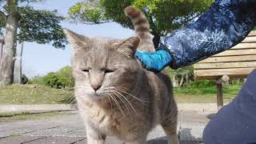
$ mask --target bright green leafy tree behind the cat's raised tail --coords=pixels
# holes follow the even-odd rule
[[[136,6],[146,12],[150,21],[150,33],[154,35],[154,45],[158,46],[161,36],[187,25],[202,14],[214,0],[89,0],[70,7],[70,18],[74,22],[100,24],[118,22],[133,29],[123,10],[126,6]]]

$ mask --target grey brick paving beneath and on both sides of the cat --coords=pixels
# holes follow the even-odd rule
[[[212,114],[196,111],[179,111],[178,133],[181,144],[202,143],[202,130]],[[53,117],[28,118],[0,122],[0,144],[82,144],[86,143],[86,130],[77,112]],[[114,137],[107,144],[121,144]],[[166,136],[160,126],[148,135],[147,144],[166,144]]]

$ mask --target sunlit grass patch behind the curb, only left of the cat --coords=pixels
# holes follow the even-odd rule
[[[41,85],[10,85],[0,87],[1,104],[59,104],[71,102],[73,90],[54,89]]]

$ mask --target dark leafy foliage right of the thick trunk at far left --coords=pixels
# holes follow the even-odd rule
[[[64,20],[57,10],[34,10],[32,7],[20,8],[21,20],[18,23],[18,39],[21,42],[46,44],[53,42],[56,48],[64,48],[66,37],[59,23]]]

